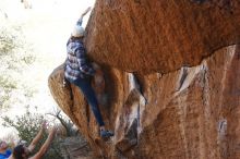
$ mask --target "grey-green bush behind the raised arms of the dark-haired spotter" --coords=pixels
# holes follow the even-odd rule
[[[3,126],[5,127],[14,127],[19,137],[22,140],[26,140],[28,144],[32,139],[36,136],[38,131],[40,130],[41,123],[44,121],[44,117],[39,113],[32,113],[27,109],[23,115],[16,117],[16,119],[10,119],[9,117],[4,117],[3,119]],[[47,138],[47,133],[44,134],[43,139],[38,143],[33,154],[37,152],[40,146]],[[51,144],[50,149],[45,155],[45,159],[61,159],[60,156],[60,143],[61,138],[55,138],[53,143]]]

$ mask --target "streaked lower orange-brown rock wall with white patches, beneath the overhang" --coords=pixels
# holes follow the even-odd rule
[[[136,75],[140,87],[132,74],[104,68],[109,102],[100,109],[107,127],[116,133],[108,142],[98,137],[96,121],[79,89],[61,87],[62,68],[50,75],[49,87],[98,157],[237,159],[239,68],[236,46],[216,51],[194,68]]]

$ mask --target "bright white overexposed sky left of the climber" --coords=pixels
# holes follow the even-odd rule
[[[65,59],[65,42],[73,25],[87,7],[94,7],[95,0],[31,0],[32,9],[24,9],[21,0],[0,0],[0,19],[8,14],[8,21],[22,25],[26,40],[37,52],[38,62],[28,66],[22,77],[37,89],[32,107],[46,113],[57,106],[48,88],[48,76]],[[89,13],[84,17],[86,25]],[[0,114],[15,117],[24,112],[20,106],[13,106]],[[1,121],[0,121],[1,123]],[[11,129],[1,127],[0,138]]]

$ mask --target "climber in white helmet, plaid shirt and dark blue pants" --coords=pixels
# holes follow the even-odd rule
[[[87,102],[91,105],[91,109],[99,125],[100,136],[106,138],[113,136],[113,133],[111,131],[105,130],[105,123],[103,121],[103,117],[98,108],[98,101],[96,99],[95,91],[91,85],[91,81],[95,74],[95,70],[87,61],[86,50],[83,45],[84,28],[82,27],[82,22],[83,16],[91,8],[87,8],[87,10],[81,15],[71,33],[71,37],[68,40],[68,57],[65,60],[64,78],[71,84],[76,85],[80,88],[80,90],[82,90],[82,93],[87,99]]]

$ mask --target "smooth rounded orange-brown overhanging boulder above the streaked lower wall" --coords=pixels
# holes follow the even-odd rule
[[[87,30],[94,61],[130,72],[167,73],[239,42],[240,2],[97,0]]]

